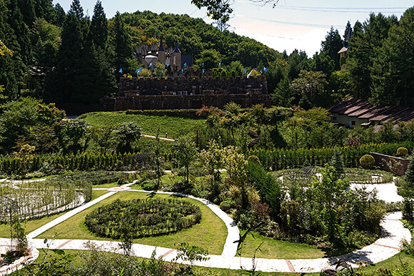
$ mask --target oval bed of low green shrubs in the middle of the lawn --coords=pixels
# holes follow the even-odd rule
[[[201,210],[183,200],[115,200],[86,215],[92,232],[119,239],[166,235],[199,223]]]

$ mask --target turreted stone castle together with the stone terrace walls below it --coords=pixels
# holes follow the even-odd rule
[[[167,51],[161,39],[159,46],[143,44],[136,48],[136,58],[144,67],[163,63],[167,78],[121,78],[118,96],[101,98],[101,111],[198,109],[204,106],[223,108],[234,102],[243,108],[258,103],[271,106],[266,76],[256,78],[212,78],[211,76],[185,77],[193,64],[192,56],[183,56],[176,43]]]

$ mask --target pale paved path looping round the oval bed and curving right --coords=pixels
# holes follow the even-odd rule
[[[118,188],[109,188],[109,193],[102,195],[95,200],[92,200],[85,205],[80,206],[79,208],[75,208],[74,210],[61,215],[56,220],[47,223],[46,225],[41,226],[30,232],[28,237],[31,242],[31,245],[34,248],[50,248],[50,249],[74,249],[74,250],[86,250],[88,249],[86,242],[89,240],[49,240],[49,245],[44,243],[43,239],[36,239],[35,237],[40,235],[42,232],[48,230],[49,228],[54,227],[61,223],[62,221],[70,218],[72,215],[89,208],[90,206],[99,203],[99,201],[104,200],[105,198],[110,197],[115,193],[123,193],[123,191],[128,190],[129,192],[144,192],[148,193],[146,190],[131,190],[129,187],[133,183],[129,183],[123,185]],[[370,185],[367,184],[367,187]],[[395,187],[395,185],[394,185]],[[378,193],[380,195],[380,199],[385,201],[390,201],[388,198],[397,198],[396,197],[396,188],[389,188],[387,185],[377,185],[376,187],[378,190],[381,188],[388,188],[386,193]],[[106,189],[96,189],[96,190],[106,190]],[[195,262],[195,265],[203,266],[203,267],[218,267],[218,268],[228,268],[232,270],[238,270],[241,267],[245,269],[252,269],[252,259],[248,257],[235,257],[236,250],[237,250],[237,243],[234,241],[239,239],[239,232],[236,226],[236,223],[226,215],[217,205],[214,205],[208,200],[202,198],[195,198],[191,195],[183,195],[178,193],[168,193],[168,192],[153,192],[153,193],[163,193],[163,194],[174,194],[174,195],[182,195],[188,198],[193,198],[195,200],[199,200],[202,203],[206,204],[208,208],[210,208],[213,213],[216,213],[219,218],[223,220],[226,224],[228,235],[226,238],[226,243],[223,247],[223,252],[221,255],[209,255],[209,260],[205,262]],[[385,198],[384,198],[385,197]],[[400,242],[401,240],[410,240],[410,231],[403,227],[403,223],[400,222],[401,212],[396,213],[389,213],[383,223],[381,223],[381,227],[383,228],[383,233],[380,239],[376,240],[372,245],[368,245],[363,247],[360,250],[356,250],[355,252],[351,252],[347,255],[341,255],[338,257],[327,257],[327,258],[319,258],[319,259],[304,259],[304,260],[279,260],[279,259],[263,259],[263,258],[256,258],[256,270],[263,271],[263,272],[320,272],[321,270],[325,269],[334,269],[335,265],[333,265],[339,259],[349,260],[350,264],[353,267],[358,267],[356,265],[357,262],[365,261],[368,264],[374,264],[383,260],[392,257],[393,255],[400,252]],[[4,244],[7,242],[8,239],[0,239],[0,244]],[[119,243],[114,241],[104,241],[104,240],[91,240],[96,245],[100,247],[100,250],[111,251],[111,252],[122,252],[119,249]],[[163,260],[171,261],[176,257],[176,250],[171,248],[164,248],[164,247],[154,247],[151,245],[138,245],[133,244],[133,255],[137,257],[151,257],[152,252],[156,250],[157,257],[163,257]],[[36,256],[34,256],[36,257]],[[188,262],[183,262],[188,263]],[[0,271],[0,275],[1,271]]]

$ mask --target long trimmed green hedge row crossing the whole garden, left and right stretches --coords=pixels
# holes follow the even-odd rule
[[[368,144],[360,147],[339,148],[343,155],[343,162],[347,168],[357,168],[359,159],[370,152],[395,155],[401,146],[414,149],[414,142],[405,141],[395,144]],[[292,150],[249,150],[246,158],[256,155],[265,168],[270,170],[283,170],[288,168],[301,168],[308,165],[320,165],[330,161],[334,148],[300,148]],[[94,154],[82,153],[79,155],[32,155],[30,158],[20,158],[16,155],[6,155],[0,158],[0,173],[24,174],[53,167],[56,170],[133,170],[143,164],[151,162],[153,153],[112,153]],[[164,160],[176,159],[176,152],[162,153]]]

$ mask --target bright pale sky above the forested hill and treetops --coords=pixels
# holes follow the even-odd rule
[[[96,0],[80,0],[84,13],[92,16]],[[271,5],[258,6],[248,0],[233,0],[233,17],[228,21],[229,31],[248,36],[278,51],[291,53],[294,49],[306,51],[313,56],[320,51],[320,42],[325,40],[330,27],[338,29],[343,36],[348,21],[353,26],[363,22],[371,12],[385,16],[394,14],[398,19],[403,12],[413,6],[413,0],[279,0]],[[67,12],[71,0],[53,0]],[[212,21],[206,16],[206,9],[197,9],[191,0],[101,0],[108,19],[116,11],[153,11],[157,14],[188,14]]]

